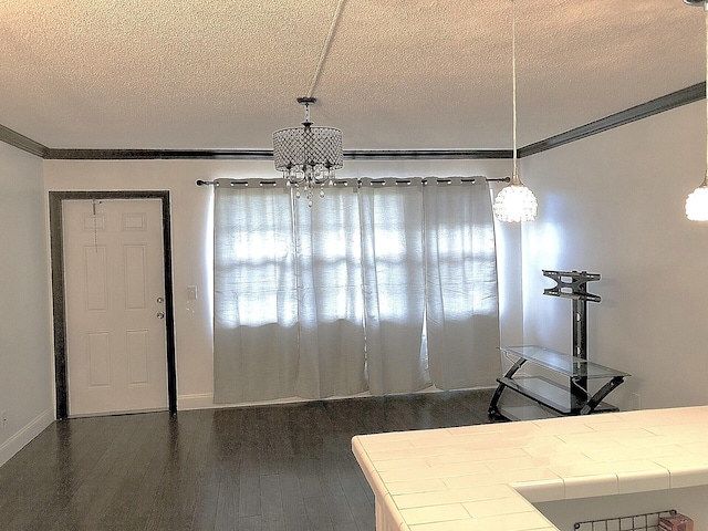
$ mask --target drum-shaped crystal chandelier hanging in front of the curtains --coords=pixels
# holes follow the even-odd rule
[[[310,122],[310,105],[314,97],[299,97],[305,106],[302,127],[289,127],[273,133],[273,160],[275,169],[283,173],[289,186],[304,189],[308,205],[312,206],[314,189],[320,188],[324,197],[324,186],[334,179],[334,170],[343,166],[342,132],[335,127],[314,127]]]

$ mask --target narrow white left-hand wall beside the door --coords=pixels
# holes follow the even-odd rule
[[[0,143],[0,465],[54,418],[42,160]]]

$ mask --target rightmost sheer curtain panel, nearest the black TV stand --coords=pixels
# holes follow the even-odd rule
[[[497,251],[488,186],[426,186],[426,323],[440,389],[490,385],[499,361]]]

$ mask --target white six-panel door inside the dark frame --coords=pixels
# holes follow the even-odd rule
[[[70,416],[167,409],[162,201],[62,210]]]

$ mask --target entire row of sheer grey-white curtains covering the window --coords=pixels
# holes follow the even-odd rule
[[[217,188],[216,403],[494,383],[485,180],[350,185],[312,208],[287,188]]]

